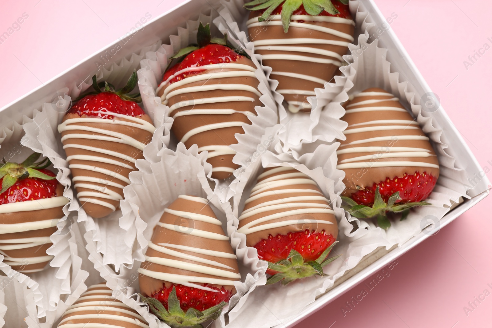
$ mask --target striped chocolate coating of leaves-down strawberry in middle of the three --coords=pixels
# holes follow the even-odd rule
[[[292,182],[290,182],[290,181]],[[263,185],[263,183],[266,183]],[[281,183],[283,185],[277,185]],[[262,187],[261,192],[256,192],[256,187]],[[301,191],[306,190],[306,191]],[[284,192],[286,191],[286,192]],[[256,195],[260,195],[256,197]],[[302,198],[300,198],[302,197]],[[300,203],[300,204],[295,204]],[[313,204],[321,204],[321,207],[314,207]],[[278,205],[280,208],[275,208]],[[267,206],[273,206],[267,208]],[[254,215],[246,215],[248,209],[260,209]],[[317,213],[309,213],[308,210],[316,209]],[[300,210],[299,213],[293,212]],[[303,211],[304,210],[304,211]],[[269,225],[273,223],[294,220],[295,223],[285,223],[280,227],[262,229],[250,232],[245,225],[254,220],[261,220],[268,215],[285,212],[285,216],[273,218],[267,221],[258,222],[250,226],[251,229]],[[239,232],[246,234],[246,245],[254,246],[261,239],[268,239],[269,235],[287,235],[308,229],[310,232],[319,233],[325,231],[326,234],[338,237],[338,224],[330,208],[328,200],[323,196],[318,185],[304,173],[293,168],[267,168],[258,177],[258,182],[253,187],[250,198],[246,201],[242,215],[239,217]],[[316,220],[316,221],[315,221]],[[320,222],[321,221],[321,222]],[[323,223],[326,221],[327,223]]]

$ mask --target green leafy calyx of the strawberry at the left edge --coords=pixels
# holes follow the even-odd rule
[[[0,178],[3,178],[0,194],[4,193],[18,180],[26,179],[28,177],[43,180],[56,179],[56,177],[48,176],[47,174],[39,171],[40,169],[45,169],[51,165],[51,162],[47,157],[39,162],[36,162],[39,156],[41,156],[40,153],[34,152],[20,164],[6,162],[5,159],[3,159],[2,164],[0,164]]]

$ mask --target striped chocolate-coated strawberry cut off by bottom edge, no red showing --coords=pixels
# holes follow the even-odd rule
[[[58,328],[106,325],[107,328],[148,328],[137,311],[111,296],[105,283],[92,285],[63,314]],[[90,327],[99,327],[99,326]]]

